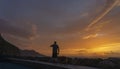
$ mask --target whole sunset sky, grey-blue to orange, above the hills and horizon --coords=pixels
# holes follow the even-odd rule
[[[120,57],[120,0],[0,0],[0,32],[20,49]]]

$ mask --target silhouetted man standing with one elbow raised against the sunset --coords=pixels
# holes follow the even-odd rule
[[[57,58],[59,55],[59,46],[57,42],[55,41],[50,47],[52,47],[52,58]]]

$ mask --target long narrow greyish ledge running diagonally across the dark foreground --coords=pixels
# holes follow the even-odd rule
[[[47,63],[47,62],[41,62],[41,61],[33,61],[33,60],[23,60],[23,59],[15,59],[15,58],[11,58],[11,60],[13,61],[22,61],[22,62],[32,62],[32,63],[36,63],[39,65],[44,65],[44,66],[53,66],[53,67],[61,67],[60,69],[99,69],[99,68],[94,68],[94,67],[87,67],[87,66],[76,66],[76,65],[68,65],[68,64],[57,64],[57,63]],[[58,68],[54,68],[54,69],[58,69]]]

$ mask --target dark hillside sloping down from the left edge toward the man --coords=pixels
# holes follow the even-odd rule
[[[15,45],[6,41],[0,34],[0,55],[23,56],[23,57],[44,57],[35,50],[21,50]]]

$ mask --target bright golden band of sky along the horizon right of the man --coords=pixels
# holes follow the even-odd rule
[[[67,51],[67,53],[66,53]],[[108,55],[119,53],[120,51],[120,43],[111,43],[104,44],[98,47],[93,48],[77,48],[77,49],[65,49],[62,50],[61,53],[66,55],[69,54],[71,56],[84,56],[84,57],[108,57]],[[111,56],[112,57],[112,56]]]

